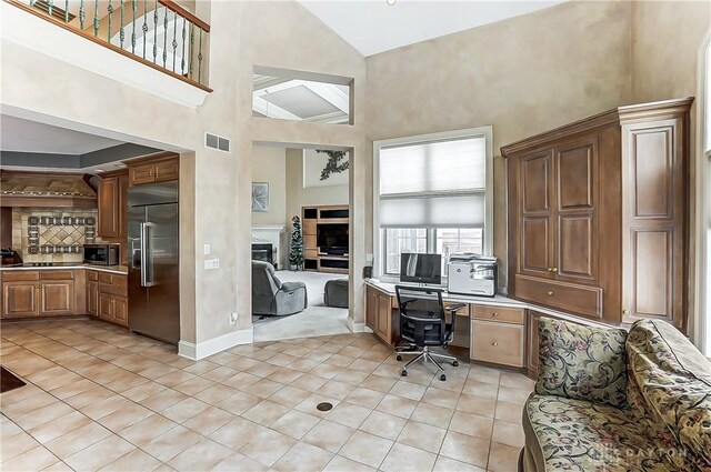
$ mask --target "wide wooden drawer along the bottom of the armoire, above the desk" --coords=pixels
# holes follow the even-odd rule
[[[602,289],[515,277],[515,295],[589,318],[602,318]]]

